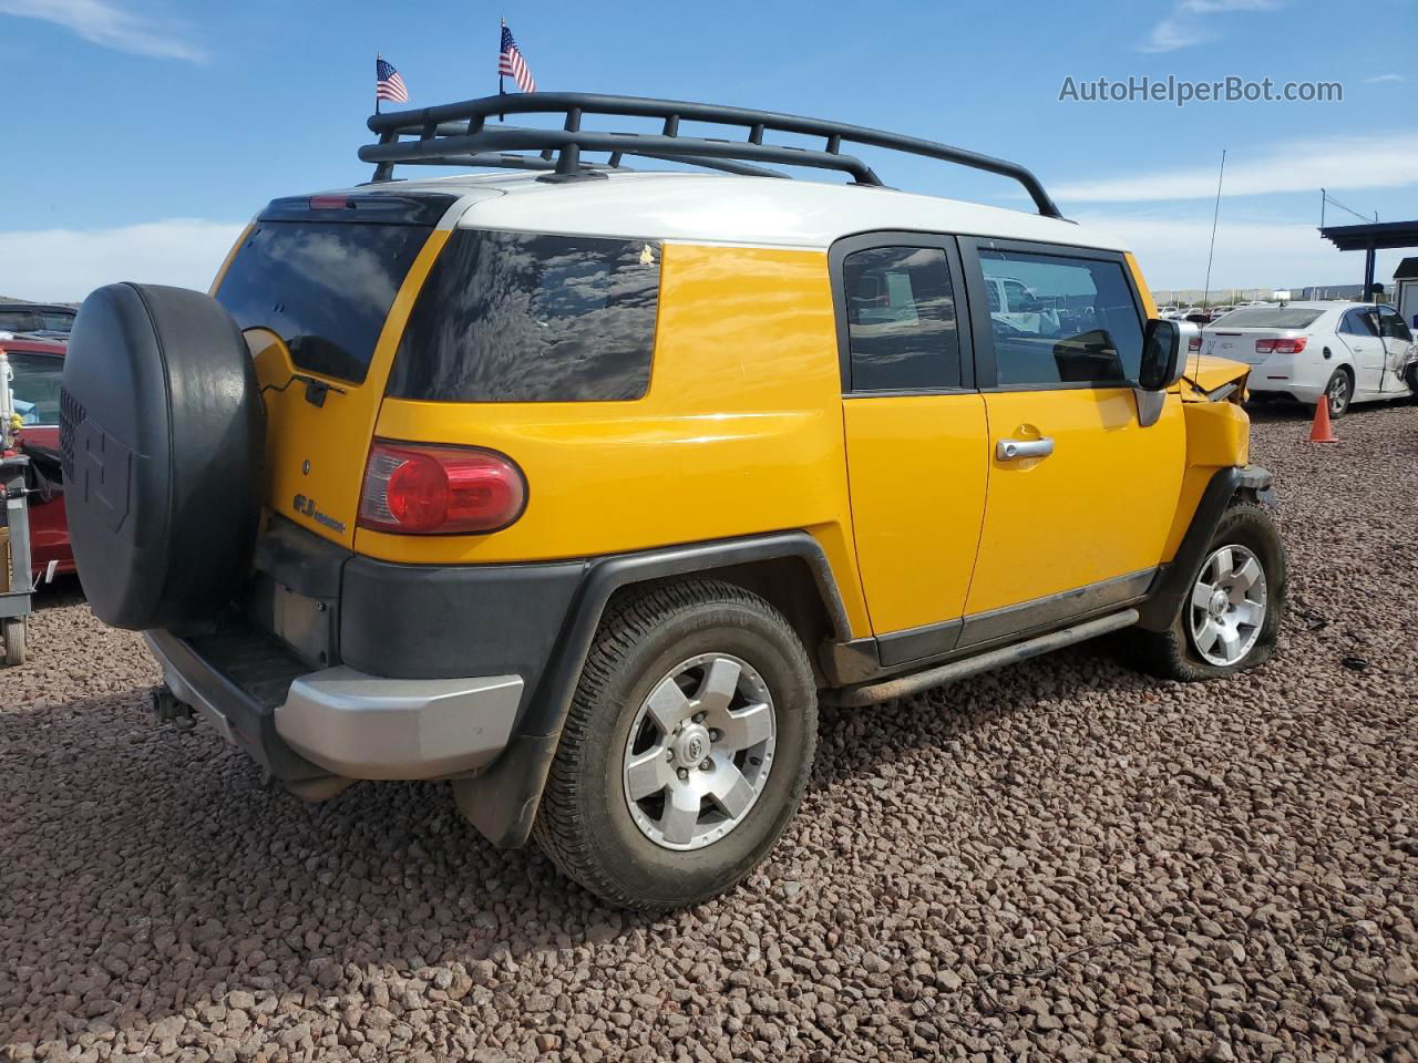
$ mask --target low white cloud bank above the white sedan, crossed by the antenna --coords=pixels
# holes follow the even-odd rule
[[[1083,225],[1122,237],[1153,289],[1201,288],[1207,275],[1211,210],[1188,213],[1089,213]],[[1381,252],[1378,279],[1388,283],[1401,252]],[[1212,291],[1293,285],[1344,285],[1364,279],[1364,257],[1322,240],[1314,220],[1276,221],[1228,214],[1221,206]]]

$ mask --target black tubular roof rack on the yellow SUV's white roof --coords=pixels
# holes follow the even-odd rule
[[[489,118],[502,115],[559,115],[563,122],[562,129],[488,125]],[[583,129],[581,120],[586,115],[652,118],[661,119],[664,128],[659,133]],[[681,136],[681,122],[739,126],[746,129],[747,135],[742,140]],[[804,166],[845,173],[856,184],[879,186],[881,179],[866,163],[856,156],[842,153],[842,145],[862,145],[1010,177],[1024,186],[1039,214],[1061,217],[1038,177],[1018,163],[915,136],[750,108],[640,96],[603,96],[591,92],[527,92],[372,115],[369,128],[379,133],[379,143],[360,147],[359,157],[376,164],[376,181],[391,180],[396,163],[546,170],[546,180],[574,180],[603,176],[605,167],[618,169],[625,157],[638,157],[689,163],[756,177],[787,176],[760,163]],[[764,143],[767,132],[821,136],[825,143],[821,150]],[[401,140],[404,136],[417,139]],[[604,164],[588,164],[581,160],[581,152],[607,152],[610,157]]]

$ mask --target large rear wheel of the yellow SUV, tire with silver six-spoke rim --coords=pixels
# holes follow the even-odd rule
[[[682,670],[706,656],[709,662]],[[733,673],[733,700],[715,700],[705,693],[710,669],[729,676],[733,660],[743,666]],[[676,693],[686,687],[688,693]],[[750,689],[753,696],[744,696]],[[691,716],[678,733],[654,720],[657,713],[682,719],[700,704],[715,709],[699,724]],[[744,723],[749,716],[752,729]],[[713,767],[700,777],[685,748],[698,757],[696,729],[726,719],[729,727],[708,733],[712,755],[705,763]],[[764,734],[769,719],[771,741],[746,746]],[[631,591],[607,609],[587,656],[533,836],[569,877],[613,904],[652,911],[695,904],[735,886],[769,853],[797,811],[815,746],[813,669],[777,609],[713,580]],[[666,754],[662,770],[661,753]],[[627,758],[637,755],[647,772],[641,789],[651,792],[632,801]],[[739,780],[753,780],[750,788],[756,787],[756,798],[732,822],[727,809],[742,802],[737,787],[732,792],[740,797],[725,805],[712,797],[700,805],[692,789],[725,789],[720,784],[733,778],[726,761]],[[664,789],[654,791],[661,784]],[[696,819],[689,812],[672,815],[676,792],[685,808],[702,809]],[[652,838],[657,831],[658,840]],[[699,833],[691,836],[691,831]]]

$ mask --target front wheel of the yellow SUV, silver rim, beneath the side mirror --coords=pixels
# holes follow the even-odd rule
[[[1133,629],[1141,668],[1161,679],[1217,679],[1263,665],[1285,618],[1285,547],[1261,506],[1221,517],[1171,626]]]

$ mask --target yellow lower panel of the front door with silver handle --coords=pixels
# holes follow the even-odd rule
[[[1187,454],[1183,404],[1137,424],[1130,388],[995,391],[990,500],[967,614],[1153,568],[1173,526]],[[1000,461],[1000,439],[1054,439],[1046,458]]]

